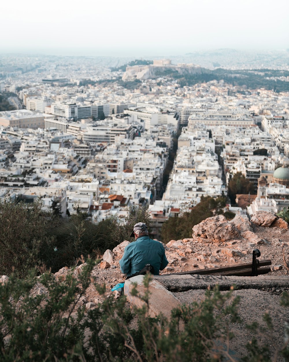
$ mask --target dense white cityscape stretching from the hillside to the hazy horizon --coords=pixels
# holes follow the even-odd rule
[[[274,173],[289,164],[289,92],[280,91],[289,85],[288,52],[235,53],[212,52],[204,64],[193,63],[199,53],[149,60],[2,55],[0,197],[40,197],[63,217],[78,203],[96,223],[148,206],[156,237],[202,196],[226,197],[238,172],[254,189],[234,205],[228,198],[228,211],[289,205],[288,169]],[[237,66],[259,76],[255,89],[239,85],[246,75],[229,77]],[[202,79],[226,68],[226,81]],[[279,83],[266,86],[273,71],[270,81]],[[187,79],[191,85],[181,86]]]

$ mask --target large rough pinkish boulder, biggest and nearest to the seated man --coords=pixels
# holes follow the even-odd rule
[[[212,216],[193,227],[193,235],[212,241],[226,241],[236,239],[240,232],[234,225],[226,220],[223,215]]]

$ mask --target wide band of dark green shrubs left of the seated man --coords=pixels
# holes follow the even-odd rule
[[[81,255],[98,257],[130,238],[135,223],[151,224],[147,207],[132,207],[123,220],[111,216],[93,223],[85,213],[69,218],[53,216],[42,209],[42,201],[33,204],[0,201],[0,275],[13,270],[19,277],[37,266],[45,265],[52,272],[73,266]]]

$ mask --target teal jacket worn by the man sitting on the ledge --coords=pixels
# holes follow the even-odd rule
[[[148,235],[142,235],[133,243],[126,245],[120,260],[120,270],[129,277],[142,270],[146,264],[151,264],[155,269],[154,274],[159,275],[159,271],[168,265],[168,260],[165,249],[159,241],[150,239]]]

